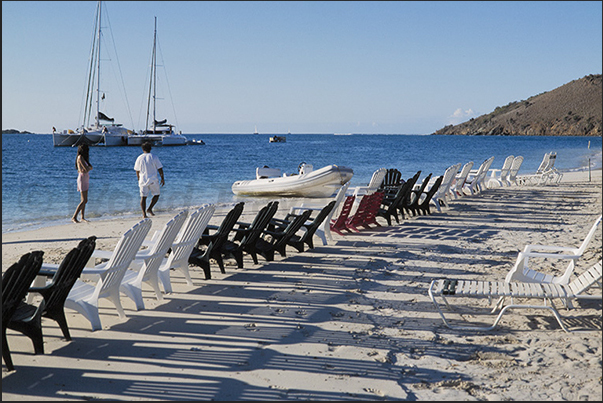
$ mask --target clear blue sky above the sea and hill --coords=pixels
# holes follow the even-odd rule
[[[603,64],[600,1],[104,7],[103,46],[117,54],[103,62],[104,111],[136,130],[155,16],[158,117],[185,134],[429,134]],[[3,129],[78,126],[95,12],[94,1],[2,2]]]

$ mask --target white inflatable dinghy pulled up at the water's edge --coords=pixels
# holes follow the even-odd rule
[[[354,176],[352,168],[337,165],[314,170],[302,162],[298,170],[281,175],[280,169],[256,168],[256,179],[236,181],[232,192],[241,196],[329,197]]]

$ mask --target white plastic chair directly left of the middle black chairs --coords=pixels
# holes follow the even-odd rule
[[[186,283],[193,285],[188,268],[188,258],[215,211],[216,206],[214,204],[205,204],[190,213],[182,225],[180,232],[172,243],[171,251],[159,267],[159,280],[161,280],[166,293],[172,292],[171,269],[182,272]]]

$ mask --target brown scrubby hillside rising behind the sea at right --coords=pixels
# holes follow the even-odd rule
[[[591,74],[525,101],[432,134],[475,136],[601,136],[603,80]]]

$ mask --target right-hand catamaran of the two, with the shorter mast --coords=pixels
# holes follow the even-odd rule
[[[157,17],[155,17],[155,31],[153,35],[153,53],[151,57],[151,79],[149,82],[149,96],[147,101],[146,129],[139,134],[128,136],[128,145],[141,145],[150,141],[162,146],[183,146],[188,143],[182,132],[175,133],[174,125],[167,119],[157,120]],[[152,109],[151,109],[152,106]],[[149,119],[152,121],[149,123]]]

